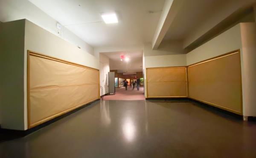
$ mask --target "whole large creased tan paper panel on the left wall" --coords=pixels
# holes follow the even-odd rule
[[[29,127],[99,99],[99,71],[29,55]]]

